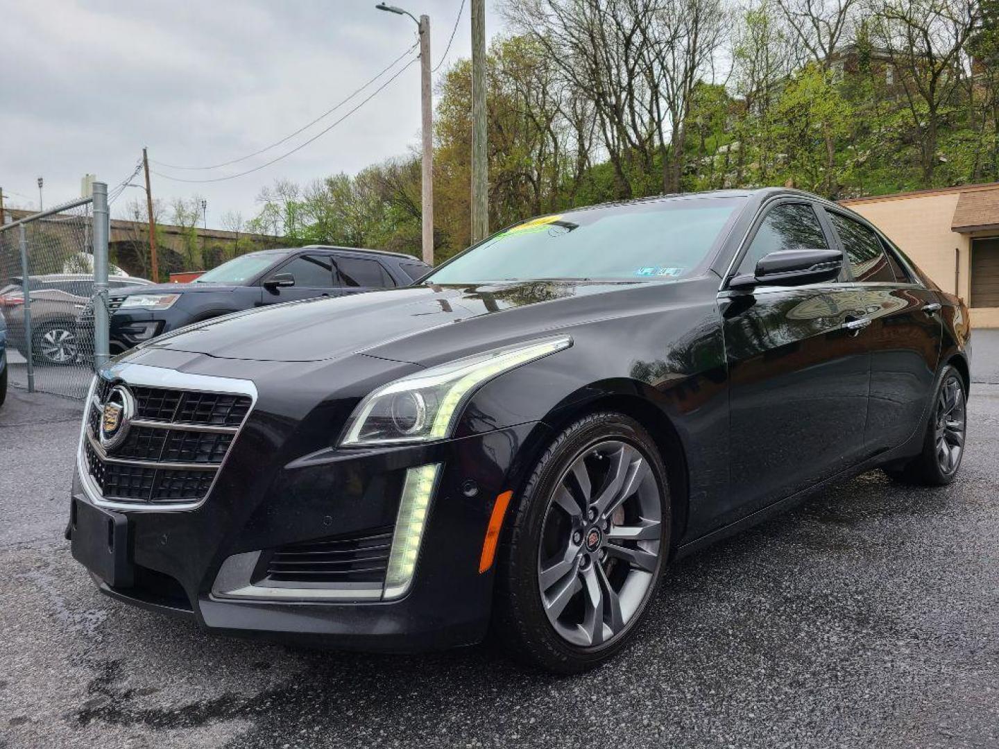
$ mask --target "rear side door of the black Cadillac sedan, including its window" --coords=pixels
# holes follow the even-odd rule
[[[874,453],[901,444],[923,423],[943,318],[935,293],[872,227],[833,209],[826,213],[849,261],[858,307],[870,322],[858,338],[871,355],[864,441]]]

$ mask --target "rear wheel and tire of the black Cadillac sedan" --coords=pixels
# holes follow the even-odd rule
[[[954,428],[952,424],[956,419],[947,419],[948,414],[953,414],[946,410],[946,399],[948,392],[956,392],[959,402],[959,428]],[[964,440],[967,433],[967,402],[968,391],[964,383],[964,377],[956,369],[948,365],[940,373],[937,379],[936,388],[933,390],[933,400],[930,402],[930,412],[926,418],[925,434],[923,436],[923,448],[918,456],[911,460],[894,466],[886,466],[884,472],[893,480],[916,486],[943,486],[954,480],[961,467],[961,459],[964,457]],[[943,422],[941,422],[943,419]],[[940,440],[944,439],[945,446],[941,448]],[[956,456],[952,453],[956,449]],[[947,450],[947,459],[942,456],[942,449]]]

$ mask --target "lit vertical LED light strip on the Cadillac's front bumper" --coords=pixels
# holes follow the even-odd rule
[[[392,551],[389,554],[389,571],[385,576],[385,600],[406,595],[413,583],[427,512],[440,468],[441,463],[430,463],[406,471],[403,498],[396,518],[396,533],[393,535]]]

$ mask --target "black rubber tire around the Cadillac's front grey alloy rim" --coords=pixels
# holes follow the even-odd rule
[[[545,528],[545,518],[549,516],[548,513],[552,511],[551,508],[555,504],[553,499],[554,492],[556,489],[564,488],[566,485],[563,481],[569,480],[569,469],[573,465],[577,465],[579,460],[596,460],[598,462],[601,458],[594,450],[602,444],[617,443],[624,443],[636,451],[634,454],[640,455],[640,457],[647,461],[647,469],[643,469],[644,477],[640,479],[641,483],[639,487],[641,491],[646,492],[646,498],[643,501],[654,503],[654,499],[649,498],[651,496],[649,492],[651,491],[650,487],[653,485],[651,483],[653,480],[654,486],[658,490],[658,507],[661,512],[659,515],[661,520],[659,521],[659,533],[656,539],[657,548],[655,551],[654,568],[651,568],[652,564],[649,563],[647,567],[642,567],[641,571],[638,572],[642,575],[650,573],[651,577],[650,579],[647,577],[642,578],[643,584],[647,585],[647,588],[643,593],[643,597],[640,598],[640,602],[637,604],[635,601],[639,600],[638,597],[632,597],[629,603],[632,613],[629,614],[626,622],[621,623],[620,601],[624,600],[624,591],[621,589],[618,591],[621,593],[621,598],[618,600],[614,597],[617,606],[615,611],[616,619],[620,628],[615,631],[613,623],[607,624],[607,631],[611,632],[611,634],[605,641],[596,645],[582,646],[573,644],[567,641],[563,635],[560,635],[556,631],[554,623],[549,621],[548,614],[545,613],[542,592],[539,588],[541,544],[545,542],[542,538],[542,531]],[[637,462],[629,463],[632,468],[638,464]],[[586,463],[584,462],[583,465],[585,466]],[[597,473],[596,476],[598,477],[599,474]],[[601,486],[591,491],[590,495],[606,489],[609,476],[608,471]],[[618,492],[622,496],[622,499],[618,500],[617,506],[619,509],[614,511],[614,517],[617,516],[617,512],[621,512],[621,517],[623,517],[625,501],[628,503],[635,501],[634,497],[638,496],[638,490],[628,495],[632,497],[631,499],[625,500],[624,495],[627,494],[632,484],[638,486],[638,480],[626,481],[627,488],[623,488]],[[586,500],[584,499],[580,499],[579,503],[583,507],[586,506]],[[595,519],[591,518],[587,520],[586,512],[587,510],[583,509],[582,522],[602,522],[599,519],[599,515]],[[566,520],[566,522],[569,521]],[[620,562],[618,559],[608,560],[610,551],[615,548],[610,539],[613,531],[617,530],[617,527],[612,526],[610,520],[606,522],[607,524],[604,526],[606,528],[606,536],[602,540],[602,543],[606,544],[606,548],[601,547],[591,555],[582,553],[588,549],[588,539],[590,538],[588,532],[591,531],[583,530],[581,534],[573,533],[572,535],[573,542],[575,542],[576,536],[583,539],[583,546],[577,547],[579,554],[586,557],[582,563],[591,568],[593,576],[600,577],[602,583],[608,585],[607,588],[601,585],[601,592],[598,598],[600,602],[593,606],[594,609],[598,607],[597,610],[601,612],[607,610],[604,608],[606,604],[603,603],[603,596],[606,595],[607,600],[611,597],[607,595],[610,585],[608,583],[608,574],[618,571],[614,565],[623,565],[622,569],[626,570],[623,573],[625,576],[637,571],[637,569],[629,567],[626,562]],[[639,518],[639,522],[643,522],[643,519]],[[623,521],[622,523],[627,524]],[[623,527],[621,529],[623,530]],[[658,453],[655,442],[649,436],[648,432],[634,419],[615,412],[594,413],[575,421],[554,439],[544,454],[538,459],[533,472],[523,487],[519,501],[513,507],[511,515],[507,519],[506,529],[500,541],[497,563],[496,601],[492,622],[494,639],[498,640],[503,648],[516,660],[547,671],[573,674],[600,665],[627,646],[629,641],[633,639],[636,628],[647,613],[649,601],[654,598],[655,590],[661,578],[662,567],[669,553],[669,533],[670,502],[666,470],[662,464],[662,458]],[[645,543],[646,547],[655,546],[656,540],[635,542],[635,547],[640,546],[642,543]],[[617,543],[620,546],[624,546],[629,542],[617,541]],[[569,551],[568,553],[573,552]],[[616,556],[616,554],[613,555]],[[609,573],[604,571],[607,568],[605,565],[610,566]],[[596,569],[597,566],[599,566],[599,570]],[[585,571],[588,571],[585,567],[578,573],[576,568],[573,568],[572,571],[567,573],[568,577],[562,579],[571,578],[571,582],[575,583],[576,574],[581,576]],[[588,594],[587,590],[583,587],[579,595],[586,594]],[[582,605],[585,605],[585,601],[583,601]],[[598,638],[597,636],[593,636],[593,640],[602,640],[606,636],[603,629],[605,626],[605,620],[602,618],[603,615],[602,613],[600,614],[601,618],[597,620],[598,623],[596,624],[600,634]],[[555,616],[557,617],[558,614],[555,614]]]

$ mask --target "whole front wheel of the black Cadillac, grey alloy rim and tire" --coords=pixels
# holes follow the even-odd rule
[[[666,471],[634,419],[596,413],[538,460],[500,545],[494,632],[530,665],[579,673],[631,639],[669,549]]]

